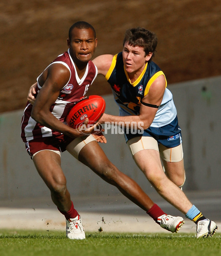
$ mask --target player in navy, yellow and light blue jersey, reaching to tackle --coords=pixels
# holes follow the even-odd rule
[[[152,61],[156,47],[154,33],[132,28],[126,31],[122,52],[93,60],[98,74],[111,85],[120,111],[119,116],[104,114],[99,122],[123,125],[134,161],[157,192],[196,223],[197,238],[213,236],[216,223],[206,219],[182,191],[185,169],[181,129],[165,75]],[[140,128],[134,134],[135,126]]]

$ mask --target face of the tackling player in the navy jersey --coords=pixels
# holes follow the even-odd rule
[[[123,47],[123,64],[129,77],[139,76],[151,56],[151,52],[148,55],[145,54],[143,47],[132,46],[125,42]]]

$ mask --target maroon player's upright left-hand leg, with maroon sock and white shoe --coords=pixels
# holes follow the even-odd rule
[[[69,239],[85,239],[81,217],[74,209],[70,193],[66,187],[66,178],[61,168],[59,154],[44,150],[38,152],[33,161],[39,175],[51,192],[51,198],[66,218],[66,236]]]

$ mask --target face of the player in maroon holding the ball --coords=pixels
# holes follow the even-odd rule
[[[76,64],[85,64],[93,57],[97,47],[97,38],[91,28],[72,30],[71,40],[67,39],[70,55]]]

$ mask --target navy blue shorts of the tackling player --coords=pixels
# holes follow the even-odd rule
[[[124,136],[126,142],[134,137],[149,136],[157,140],[158,144],[162,144],[165,147],[172,148],[179,146],[182,143],[181,129],[178,125],[177,116],[173,121],[162,127],[149,127],[143,131],[143,134],[132,134],[130,130],[124,130]]]

